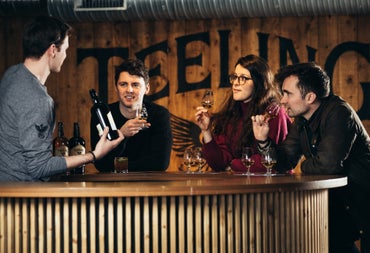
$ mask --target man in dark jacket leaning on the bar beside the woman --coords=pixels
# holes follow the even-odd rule
[[[294,118],[277,147],[276,169],[294,168],[303,155],[305,174],[346,175],[346,187],[329,191],[329,250],[358,252],[354,241],[359,236],[365,250],[370,241],[370,138],[365,127],[355,110],[331,93],[329,77],[316,64],[283,67],[275,78],[283,92],[281,104]],[[256,115],[252,121],[259,150],[275,145],[267,138],[267,119]]]

